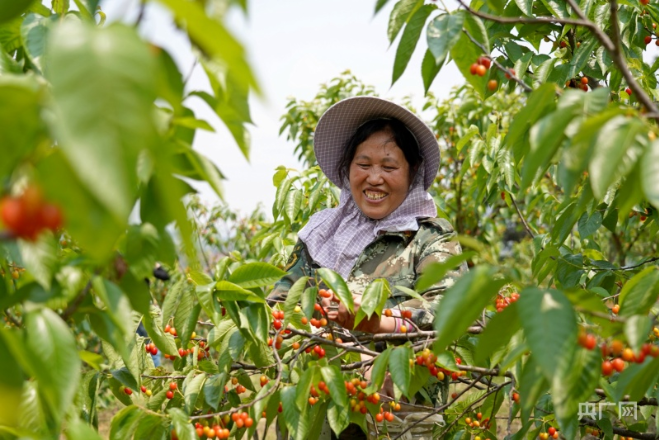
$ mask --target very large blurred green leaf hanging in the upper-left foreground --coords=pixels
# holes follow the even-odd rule
[[[153,56],[135,29],[120,24],[65,20],[51,40],[46,73],[59,147],[98,202],[125,224],[137,196],[138,155],[157,142]]]

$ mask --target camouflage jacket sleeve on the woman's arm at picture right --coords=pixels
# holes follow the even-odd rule
[[[415,239],[419,240],[419,252],[415,265],[416,281],[421,273],[433,263],[443,263],[450,257],[462,253],[462,248],[457,241],[452,241],[455,237],[453,227],[446,220],[433,219],[430,225],[419,230]],[[435,319],[435,310],[439,307],[442,294],[446,289],[455,284],[455,281],[467,271],[467,264],[462,263],[460,266],[448,271],[443,279],[430,286],[428,289],[419,292],[426,300],[425,302],[418,299],[404,301],[400,307],[412,312],[412,321],[422,330],[430,330],[433,327]]]

